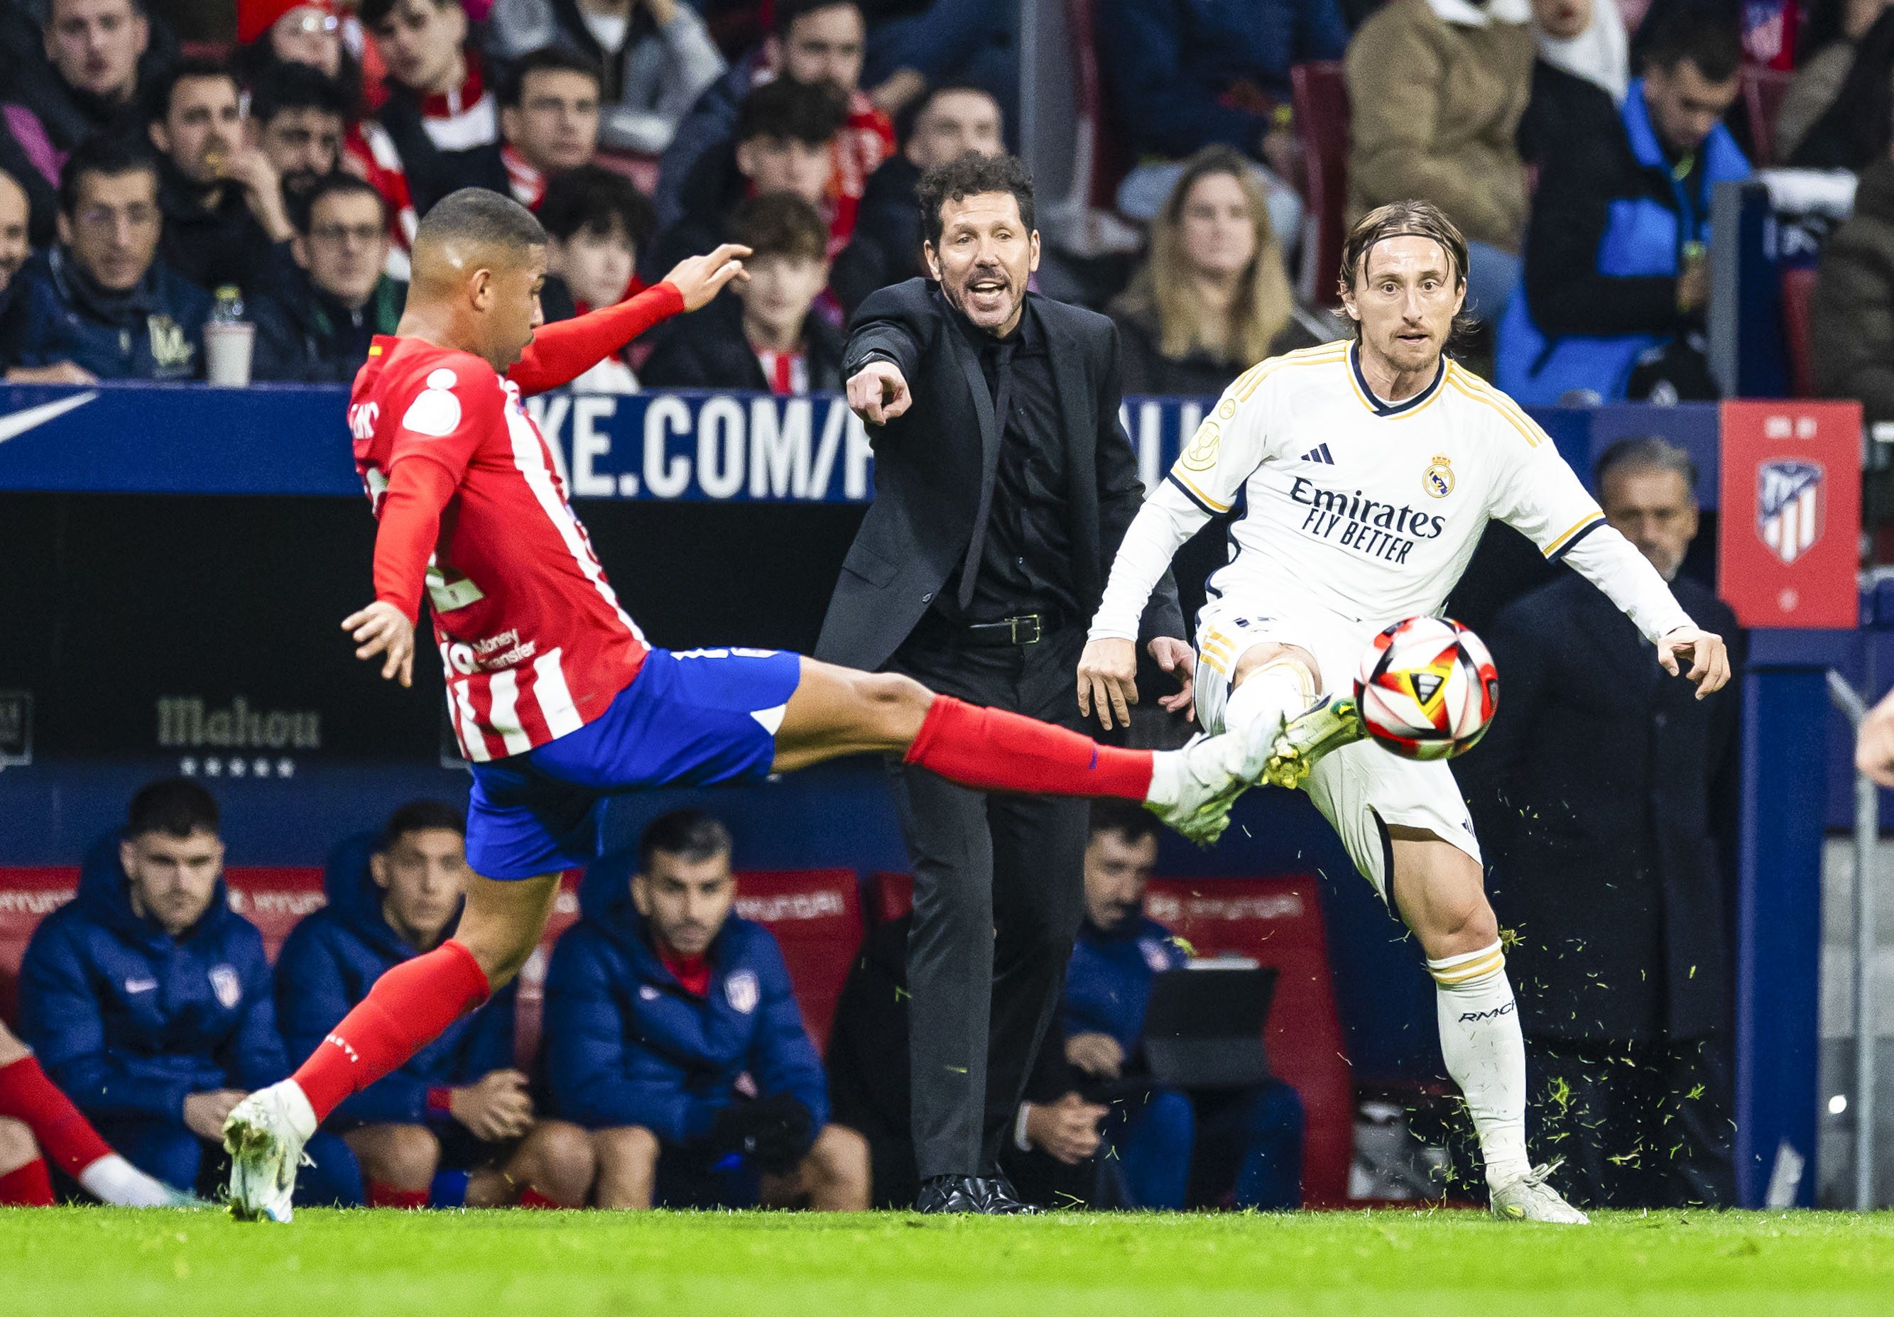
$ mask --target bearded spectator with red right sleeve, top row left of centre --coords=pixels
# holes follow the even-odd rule
[[[894,153],[894,121],[860,87],[866,25],[854,0],[777,0],[773,25],[761,47],[710,83],[678,125],[657,168],[657,221],[667,227],[678,221],[697,159],[727,142],[744,98],[780,76],[809,87],[826,85],[847,100],[828,185],[830,204],[824,208],[833,255],[854,233],[856,206],[869,174]]]

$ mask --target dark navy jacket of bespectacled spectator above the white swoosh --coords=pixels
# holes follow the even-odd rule
[[[57,246],[17,278],[21,291],[0,333],[8,365],[72,361],[102,380],[203,378],[210,293],[163,261],[125,293],[98,288]]]

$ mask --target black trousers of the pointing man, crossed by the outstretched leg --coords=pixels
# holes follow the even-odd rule
[[[941,694],[1078,727],[1083,634],[958,647],[922,623],[892,664]],[[915,867],[907,940],[913,1137],[920,1179],[992,1175],[1064,986],[1085,910],[1091,802],[970,791],[896,770]]]

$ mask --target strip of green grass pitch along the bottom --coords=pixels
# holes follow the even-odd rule
[[[1894,1215],[1472,1211],[0,1211],[0,1311],[51,1317],[1894,1313]]]

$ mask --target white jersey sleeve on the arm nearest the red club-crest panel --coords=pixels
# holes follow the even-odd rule
[[[1496,443],[1510,460],[1492,492],[1492,517],[1604,590],[1652,643],[1689,626],[1657,568],[1604,522],[1551,437],[1517,407],[1498,409],[1496,424]]]

